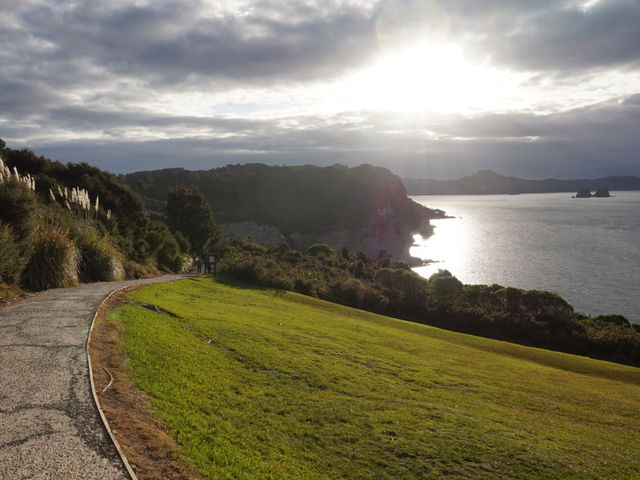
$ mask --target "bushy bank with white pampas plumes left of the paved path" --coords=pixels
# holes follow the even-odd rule
[[[201,254],[189,232],[167,225],[171,212],[148,214],[138,194],[113,175],[0,142],[0,300],[20,288],[180,272],[191,267],[192,254]],[[197,190],[178,189],[173,203],[194,195],[204,199]],[[200,204],[183,220],[202,215],[203,208],[213,219],[209,205]],[[198,233],[198,247],[218,239],[215,222]]]

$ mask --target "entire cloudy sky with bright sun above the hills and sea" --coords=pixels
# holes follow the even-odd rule
[[[0,7],[0,138],[62,162],[640,175],[640,0]]]

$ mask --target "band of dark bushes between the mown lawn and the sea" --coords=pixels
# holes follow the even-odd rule
[[[426,279],[385,256],[328,245],[301,253],[248,239],[229,241],[222,271],[390,317],[640,366],[640,325],[621,315],[581,315],[551,292],[463,285],[446,270]]]

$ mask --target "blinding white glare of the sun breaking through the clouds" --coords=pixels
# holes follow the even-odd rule
[[[455,44],[389,52],[348,81],[353,102],[401,112],[496,110],[515,95],[513,79],[469,61]]]

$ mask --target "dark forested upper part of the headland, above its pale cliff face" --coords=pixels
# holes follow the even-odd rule
[[[118,179],[156,202],[165,201],[174,185],[195,186],[207,197],[220,223],[254,221],[274,226],[285,235],[380,222],[404,222],[418,229],[421,222],[439,215],[407,198],[399,177],[371,165],[173,168]]]

